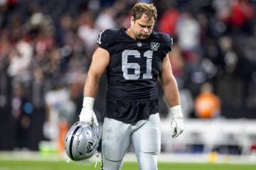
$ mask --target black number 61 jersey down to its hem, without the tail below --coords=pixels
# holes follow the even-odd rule
[[[153,32],[147,40],[134,40],[124,28],[108,29],[100,33],[97,44],[110,53],[107,98],[121,101],[158,98],[161,62],[172,45],[169,35]]]

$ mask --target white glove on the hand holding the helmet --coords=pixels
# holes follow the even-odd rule
[[[95,99],[91,97],[84,97],[82,103],[82,111],[79,115],[80,122],[88,123],[92,125],[93,123],[98,126],[97,117],[93,111],[93,103]]]

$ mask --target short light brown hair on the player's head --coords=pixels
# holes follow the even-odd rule
[[[134,21],[142,18],[142,14],[145,14],[149,20],[153,17],[154,21],[156,21],[156,12],[156,6],[154,6],[154,4],[137,3],[132,8]]]

